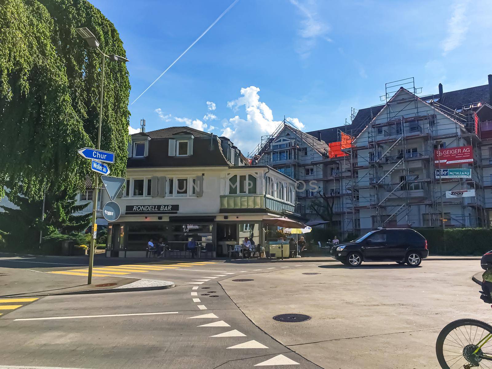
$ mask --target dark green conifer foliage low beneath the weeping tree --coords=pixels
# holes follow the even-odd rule
[[[10,194],[9,194],[10,195]],[[40,231],[44,239],[78,239],[91,222],[91,213],[77,215],[87,204],[77,204],[75,192],[63,190],[47,195],[44,203],[44,220],[41,222],[43,200],[29,201],[21,194],[9,196],[18,208],[0,206],[0,232],[8,246],[37,245]]]

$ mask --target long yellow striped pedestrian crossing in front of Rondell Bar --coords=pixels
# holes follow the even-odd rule
[[[217,261],[199,261],[199,262],[154,262],[152,264],[122,264],[122,265],[105,265],[94,267],[92,277],[108,277],[110,275],[127,275],[130,273],[149,273],[168,269],[191,268],[195,266],[203,266],[216,264]],[[48,273],[62,274],[68,276],[83,276],[87,277],[89,269],[70,269],[53,271]]]

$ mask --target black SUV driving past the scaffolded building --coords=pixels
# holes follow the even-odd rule
[[[378,229],[355,241],[333,246],[330,253],[352,267],[358,267],[363,261],[396,261],[417,267],[429,256],[424,236],[405,228]]]

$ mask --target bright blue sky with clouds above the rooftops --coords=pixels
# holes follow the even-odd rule
[[[130,102],[232,2],[92,0],[123,40]],[[239,0],[130,105],[130,125],[190,125],[247,154],[284,116],[305,131],[342,125],[387,82],[415,77],[423,94],[484,85],[491,13],[488,0]]]

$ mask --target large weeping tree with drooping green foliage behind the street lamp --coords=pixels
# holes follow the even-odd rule
[[[0,197],[84,188],[96,147],[101,56],[75,31],[88,27],[102,51],[125,56],[114,25],[86,0],[0,0]],[[101,149],[124,176],[130,84],[123,63],[106,63]]]

